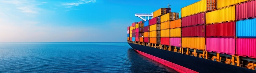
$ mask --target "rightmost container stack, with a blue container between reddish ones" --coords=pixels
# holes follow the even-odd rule
[[[255,0],[236,5],[236,54],[238,56],[256,58],[255,13]]]

